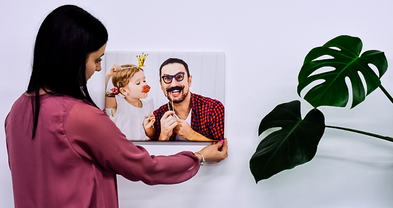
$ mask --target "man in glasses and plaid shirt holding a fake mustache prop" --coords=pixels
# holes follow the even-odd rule
[[[181,59],[169,58],[161,65],[161,89],[169,102],[154,111],[155,136],[152,140],[224,139],[224,105],[191,93],[192,78],[187,63]]]

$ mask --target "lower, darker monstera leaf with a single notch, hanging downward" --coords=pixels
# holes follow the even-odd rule
[[[300,101],[283,103],[265,116],[258,134],[281,127],[281,130],[262,139],[250,160],[250,170],[255,182],[293,167],[309,162],[316,153],[319,140],[325,131],[325,117],[312,109],[302,119]]]

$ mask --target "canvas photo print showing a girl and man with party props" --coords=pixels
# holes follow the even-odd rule
[[[104,58],[105,109],[127,139],[224,139],[224,52],[107,51]]]

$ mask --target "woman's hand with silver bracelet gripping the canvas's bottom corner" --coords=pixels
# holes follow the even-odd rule
[[[204,147],[199,151],[200,154],[203,155],[203,158],[206,162],[220,162],[228,157],[228,145],[226,142],[226,138],[209,146]],[[195,154],[199,160],[202,159],[202,156],[199,154]]]

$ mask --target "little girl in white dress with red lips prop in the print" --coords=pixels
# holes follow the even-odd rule
[[[152,99],[140,100],[147,97],[147,93],[142,92],[147,87],[143,69],[131,64],[112,65],[106,74],[105,88],[111,77],[115,88],[105,97],[105,108],[112,108],[111,119],[127,139],[150,140],[154,136],[154,104]]]

